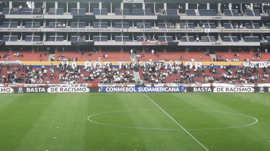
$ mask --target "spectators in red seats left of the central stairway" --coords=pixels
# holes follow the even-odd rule
[[[2,73],[3,68],[6,69],[6,73]],[[33,68],[31,65],[1,65],[0,82],[49,84],[53,81],[54,83],[75,84],[101,79],[102,83],[133,83],[135,79],[132,70],[138,70],[137,64],[126,64],[122,66],[122,69],[113,68],[111,64],[108,66],[97,64],[96,67],[92,65],[87,68],[70,66],[67,63],[60,63],[57,66],[51,64],[50,67],[40,68]],[[56,80],[57,77],[58,80]]]

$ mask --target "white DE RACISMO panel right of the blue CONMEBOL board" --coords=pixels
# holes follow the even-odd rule
[[[214,87],[214,92],[255,92],[253,87]]]

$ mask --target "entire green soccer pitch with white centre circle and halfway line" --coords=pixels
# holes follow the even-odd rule
[[[0,151],[269,151],[267,93],[0,94]]]

